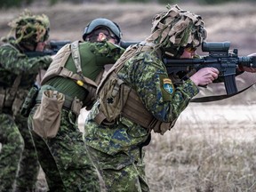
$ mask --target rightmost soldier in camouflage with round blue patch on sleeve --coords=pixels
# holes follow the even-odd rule
[[[84,126],[86,148],[108,191],[149,191],[143,162],[150,132],[170,130],[216,68],[187,79],[168,76],[163,58],[193,58],[206,37],[200,16],[167,6],[156,15],[151,35],[130,46],[98,87],[99,99]]]

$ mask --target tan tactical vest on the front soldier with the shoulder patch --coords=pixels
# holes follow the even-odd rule
[[[154,50],[154,44],[141,43],[130,46],[126,49],[122,57],[110,68],[108,74],[101,81],[97,95],[99,95],[99,113],[94,120],[98,124],[114,124],[118,116],[124,116],[136,124],[147,129],[149,132],[159,132],[164,134],[170,130],[175,122],[164,123],[155,118],[143,105],[137,92],[132,87],[118,78],[117,73],[124,67],[126,60],[140,52]],[[161,54],[160,50],[156,52]],[[103,86],[104,85],[104,86]]]

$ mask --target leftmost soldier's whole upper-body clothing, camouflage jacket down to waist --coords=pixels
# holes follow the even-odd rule
[[[29,88],[36,82],[39,69],[47,68],[52,62],[50,56],[28,58],[14,42],[11,40],[0,46],[0,109],[11,107],[12,114],[19,111]]]

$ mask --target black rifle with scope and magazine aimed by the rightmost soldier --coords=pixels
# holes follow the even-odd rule
[[[131,44],[140,42],[121,42],[121,46],[127,48]],[[164,64],[168,74],[188,74],[200,68],[217,68],[220,71],[219,77],[225,84],[228,95],[235,94],[236,87],[236,68],[239,66],[256,68],[256,57],[238,56],[238,50],[229,52],[230,42],[204,42],[202,52],[209,52],[209,55],[200,59],[167,59]],[[186,77],[185,75],[183,77]]]

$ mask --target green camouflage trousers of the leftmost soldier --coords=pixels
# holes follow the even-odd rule
[[[15,180],[21,191],[34,190],[39,164],[27,118],[0,114],[0,127],[0,191],[12,191]]]

